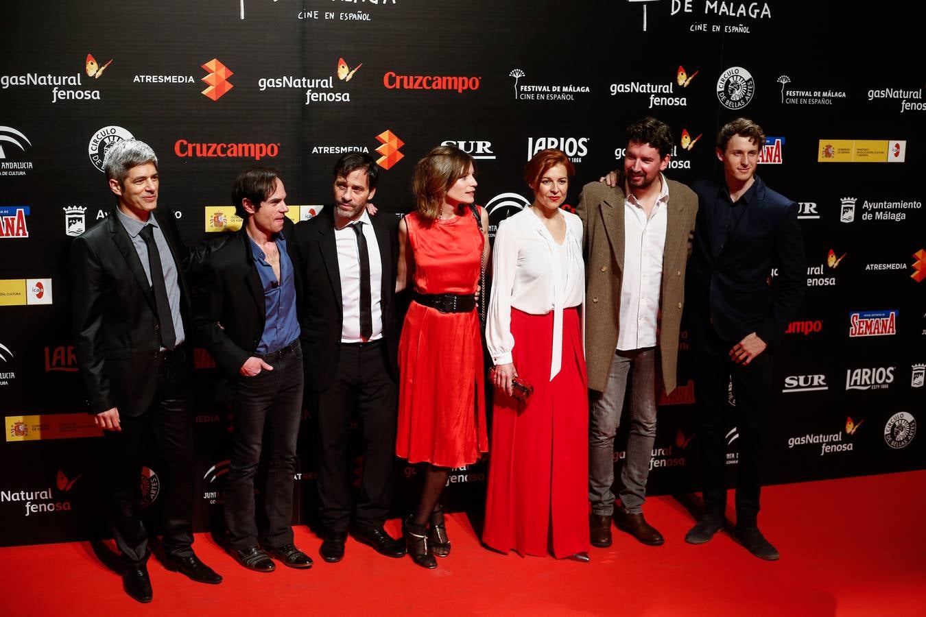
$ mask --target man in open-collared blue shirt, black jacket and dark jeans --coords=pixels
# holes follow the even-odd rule
[[[246,169],[235,180],[232,202],[244,225],[212,242],[194,297],[199,339],[233,380],[232,461],[224,490],[229,551],[256,572],[275,569],[269,556],[309,568],[312,560],[294,546],[291,526],[303,372],[293,223],[279,172]],[[265,446],[261,549],[254,479]]]

